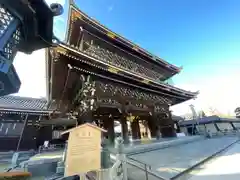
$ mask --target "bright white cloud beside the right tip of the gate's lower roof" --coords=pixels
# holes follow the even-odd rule
[[[175,114],[181,115],[190,112],[189,105],[195,105],[196,110],[205,110],[210,107],[223,114],[234,115],[234,110],[240,106],[240,72],[222,73],[204,79],[195,84],[179,84],[180,88],[186,90],[199,90],[200,94],[196,100],[190,100],[172,107]]]

